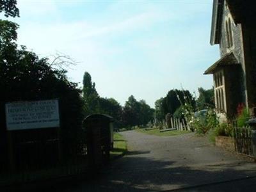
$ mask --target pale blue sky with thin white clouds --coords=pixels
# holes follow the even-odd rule
[[[204,71],[220,58],[211,46],[211,0],[17,0],[18,44],[38,56],[77,62],[68,79],[82,87],[85,71],[100,97],[124,105],[130,95],[154,102],[174,88],[212,88]],[[2,17],[3,19],[3,17]],[[197,95],[198,96],[198,95]]]

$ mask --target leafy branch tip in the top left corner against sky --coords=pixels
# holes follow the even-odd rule
[[[4,12],[4,16],[19,17],[19,9],[16,0],[0,0],[0,13]]]

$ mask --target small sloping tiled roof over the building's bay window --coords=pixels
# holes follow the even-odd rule
[[[237,64],[239,64],[239,62],[237,61],[236,56],[234,55],[234,52],[228,52],[222,58],[220,58],[220,60],[213,63],[211,67],[207,68],[204,74],[205,75],[213,74],[216,68],[218,67],[223,67],[227,65],[237,65]]]

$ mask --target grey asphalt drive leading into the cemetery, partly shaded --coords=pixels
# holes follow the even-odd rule
[[[193,133],[159,137],[122,132],[129,152],[97,179],[54,191],[255,191],[256,164]],[[45,190],[46,191],[46,190]]]

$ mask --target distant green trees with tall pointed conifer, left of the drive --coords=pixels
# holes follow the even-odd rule
[[[99,97],[95,83],[88,72],[84,73],[83,79],[84,113],[90,115],[101,113],[113,116],[115,125],[118,127],[132,127],[135,125],[147,125],[154,120],[154,109],[150,108],[145,100],[137,101],[131,95],[125,102],[124,108],[113,98]]]

